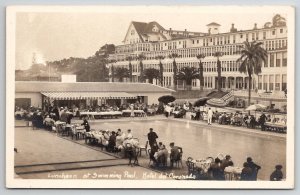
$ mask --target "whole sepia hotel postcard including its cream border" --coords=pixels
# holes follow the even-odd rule
[[[294,188],[289,6],[9,6],[8,188]]]

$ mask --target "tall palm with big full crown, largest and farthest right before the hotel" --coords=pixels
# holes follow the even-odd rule
[[[237,59],[237,62],[241,63],[239,71],[241,73],[246,73],[249,76],[249,106],[251,102],[252,75],[261,73],[262,62],[267,62],[267,51],[261,47],[262,44],[262,42],[253,41],[249,43],[248,41],[245,41],[241,51],[241,57]]]

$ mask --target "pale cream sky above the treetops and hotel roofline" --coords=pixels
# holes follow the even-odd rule
[[[77,8],[78,10],[78,8]],[[104,44],[121,45],[131,21],[157,21],[165,29],[207,32],[206,24],[217,22],[220,32],[234,23],[238,30],[262,27],[278,11],[235,9],[92,9],[91,11],[24,11],[16,13],[16,69],[28,69],[33,55],[39,63],[69,57],[89,57]],[[284,16],[284,13],[279,13]]]

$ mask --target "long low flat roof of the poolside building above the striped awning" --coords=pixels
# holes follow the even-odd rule
[[[16,81],[16,92],[173,92],[149,83]]]

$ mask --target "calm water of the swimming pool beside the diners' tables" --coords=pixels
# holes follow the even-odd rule
[[[217,157],[219,153],[230,154],[234,166],[242,167],[247,157],[260,165],[258,179],[269,180],[275,165],[286,167],[286,139],[251,133],[241,133],[234,130],[206,125],[192,124],[189,121],[153,120],[129,122],[91,122],[93,129],[109,129],[123,132],[132,130],[133,137],[139,138],[140,144],[147,141],[149,128],[152,127],[158,135],[158,142],[163,142],[169,148],[170,142],[183,148],[183,159],[192,157],[203,159],[208,156]]]

